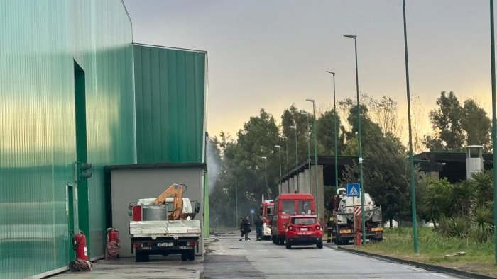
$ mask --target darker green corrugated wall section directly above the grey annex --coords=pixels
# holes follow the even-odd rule
[[[136,158],[203,163],[205,52],[134,46]]]

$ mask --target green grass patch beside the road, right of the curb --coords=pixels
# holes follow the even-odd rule
[[[417,255],[414,254],[413,229],[410,227],[386,228],[383,232],[382,242],[371,243],[362,247],[349,246],[349,248],[497,276],[492,241],[478,243],[471,239],[442,237],[430,227],[419,228],[417,235],[419,248]],[[459,251],[466,252],[466,255],[456,257],[445,256],[446,254]]]

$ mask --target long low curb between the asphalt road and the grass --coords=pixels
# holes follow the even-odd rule
[[[408,260],[404,260],[403,258],[393,258],[391,256],[383,256],[383,255],[373,254],[373,253],[366,252],[366,251],[358,251],[355,249],[348,249],[348,248],[342,247],[342,246],[337,246],[337,248],[334,248],[334,249],[346,251],[346,252],[353,253],[353,254],[359,254],[359,255],[363,255],[363,256],[370,256],[371,258],[379,258],[381,260],[393,261],[393,262],[397,262],[397,263],[405,263],[405,264],[408,264],[411,266],[416,266],[418,268],[426,269],[427,271],[442,271],[442,272],[452,273],[455,275],[461,275],[461,276],[465,276],[465,277],[469,277],[469,278],[479,278],[479,279],[480,278],[481,279],[495,279],[496,278],[496,277],[492,277],[490,275],[472,273],[469,271],[461,271],[461,270],[456,269],[456,268],[446,268],[444,266],[435,266],[435,265],[432,265],[430,263],[420,263],[419,261],[408,261]]]

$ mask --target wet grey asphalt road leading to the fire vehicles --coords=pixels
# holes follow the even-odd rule
[[[271,241],[240,242],[234,234],[218,239],[207,248],[204,278],[459,278],[339,251],[331,244],[285,249]]]

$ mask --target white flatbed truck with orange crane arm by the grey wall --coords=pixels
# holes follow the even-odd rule
[[[180,254],[182,261],[193,261],[199,244],[200,220],[193,220],[200,203],[192,209],[182,198],[184,184],[173,184],[157,198],[130,203],[129,237],[136,261],[149,261],[150,255]]]

